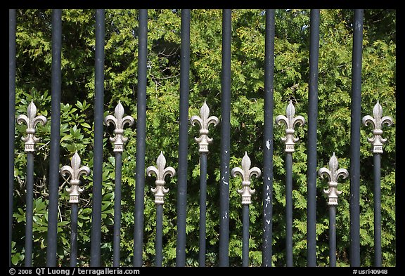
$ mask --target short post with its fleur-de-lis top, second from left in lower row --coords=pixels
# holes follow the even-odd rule
[[[163,251],[163,204],[165,203],[165,194],[169,192],[169,189],[165,188],[165,176],[175,176],[176,171],[173,167],[166,166],[166,159],[163,155],[163,152],[160,152],[158,159],[156,159],[155,166],[148,166],[146,168],[146,173],[148,176],[155,174],[155,188],[152,188],[152,192],[155,195],[155,204],[156,204],[156,240],[155,240],[155,252],[156,252],[156,261],[155,265],[158,267],[162,266],[162,251]]]

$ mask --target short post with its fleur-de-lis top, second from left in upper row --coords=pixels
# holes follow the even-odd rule
[[[104,118],[105,124],[112,123],[115,126],[113,138],[110,137],[110,142],[114,144],[115,152],[115,190],[114,190],[114,233],[113,233],[113,266],[120,266],[120,242],[121,242],[121,168],[122,168],[122,152],[124,151],[124,143],[128,138],[124,137],[124,125],[134,124],[134,118],[131,116],[124,117],[124,107],[121,101],[115,107],[114,116],[107,115]]]

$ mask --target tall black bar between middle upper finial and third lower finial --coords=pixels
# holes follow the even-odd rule
[[[221,180],[219,183],[219,266],[229,265],[229,161],[231,158],[231,13],[222,11]]]

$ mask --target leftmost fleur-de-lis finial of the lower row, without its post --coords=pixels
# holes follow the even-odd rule
[[[88,176],[90,173],[88,166],[80,166],[81,161],[82,160],[76,151],[75,155],[73,155],[72,159],[70,159],[71,166],[66,165],[60,168],[60,174],[62,176],[65,176],[66,173],[68,173],[71,177],[69,180],[70,188],[66,188],[66,192],[69,193],[70,203],[79,203],[79,195],[83,192],[83,189],[79,187],[80,175],[86,174],[86,176]]]

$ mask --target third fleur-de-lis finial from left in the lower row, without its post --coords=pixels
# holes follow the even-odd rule
[[[240,176],[242,178],[242,189],[238,189],[238,193],[242,195],[242,204],[252,203],[250,199],[253,193],[255,193],[255,189],[250,189],[250,178],[252,176],[258,178],[262,174],[262,171],[260,171],[257,166],[250,169],[250,164],[251,162],[248,153],[245,152],[245,156],[242,158],[242,169],[237,166],[231,171],[233,177]]]

